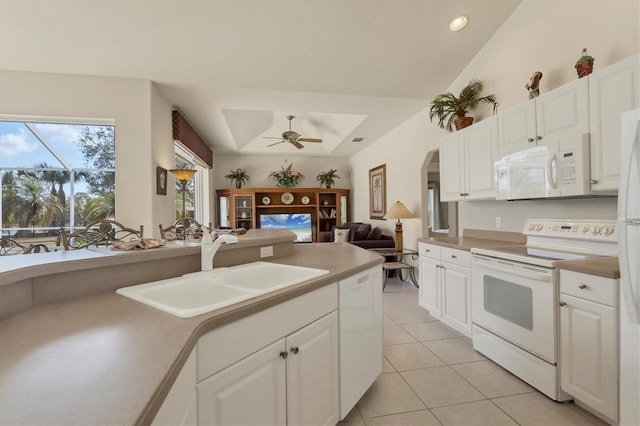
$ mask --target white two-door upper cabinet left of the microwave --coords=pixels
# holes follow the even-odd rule
[[[495,198],[497,118],[492,116],[440,140],[441,201]]]

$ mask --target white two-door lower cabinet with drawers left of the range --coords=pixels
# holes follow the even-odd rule
[[[471,337],[471,256],[469,252],[418,243],[419,304],[443,323]]]

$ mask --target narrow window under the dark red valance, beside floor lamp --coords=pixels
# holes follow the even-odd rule
[[[179,143],[176,143],[175,164],[177,169],[196,170],[193,178],[187,183],[184,216],[207,224],[209,222],[209,168]],[[183,217],[181,188],[180,182],[176,180],[176,219]]]

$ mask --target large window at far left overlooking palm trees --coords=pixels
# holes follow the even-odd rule
[[[115,126],[0,117],[2,236],[57,235],[115,214]]]

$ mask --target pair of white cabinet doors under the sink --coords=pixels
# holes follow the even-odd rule
[[[337,313],[225,368],[197,390],[200,424],[336,424]]]

